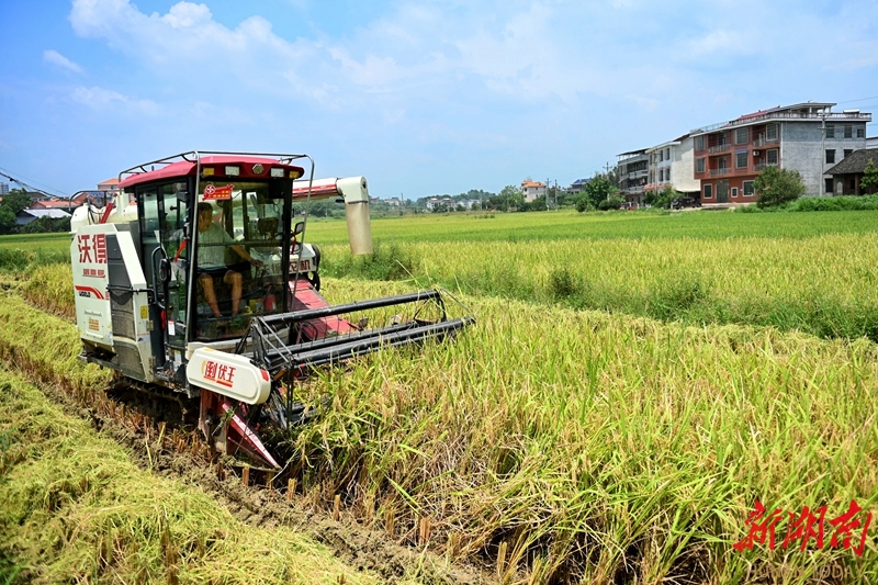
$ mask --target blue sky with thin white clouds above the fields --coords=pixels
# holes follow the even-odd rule
[[[876,0],[0,0],[0,169],[66,194],[192,149],[382,198],[569,184],[808,100],[878,135]]]

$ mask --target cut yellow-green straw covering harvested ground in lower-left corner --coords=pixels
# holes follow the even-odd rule
[[[140,470],[86,420],[0,369],[3,583],[380,583],[289,528],[236,519]]]

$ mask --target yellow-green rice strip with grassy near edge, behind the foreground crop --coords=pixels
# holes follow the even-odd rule
[[[469,294],[663,320],[878,340],[876,250],[875,232],[809,238],[412,243],[379,245],[365,259],[336,245],[323,248],[322,268],[336,275],[414,278],[421,285],[435,282]]]

